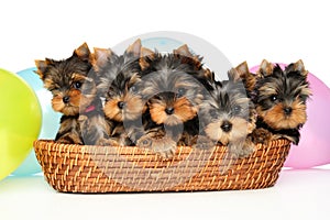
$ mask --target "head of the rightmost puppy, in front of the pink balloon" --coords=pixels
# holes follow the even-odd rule
[[[298,61],[285,70],[278,65],[271,69],[272,73],[265,73],[267,69],[260,70],[264,75],[258,79],[256,111],[272,129],[296,129],[307,120],[306,100],[310,96],[310,89],[301,65]],[[286,110],[290,112],[287,113]]]

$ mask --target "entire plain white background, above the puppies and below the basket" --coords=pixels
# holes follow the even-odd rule
[[[18,1],[0,3],[0,67],[65,58],[82,42],[111,47],[134,35],[179,31],[218,47],[233,65],[292,63],[330,86],[327,1]],[[56,194],[42,177],[0,182],[0,219],[329,219],[329,169],[286,170],[255,191]]]

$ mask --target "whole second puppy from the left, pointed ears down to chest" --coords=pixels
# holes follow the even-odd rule
[[[146,106],[139,94],[139,58],[145,52],[141,40],[136,40],[120,56],[99,51],[103,56],[95,62],[100,76],[97,88],[106,99],[103,112],[110,124],[112,145],[133,145],[143,133],[141,119]]]

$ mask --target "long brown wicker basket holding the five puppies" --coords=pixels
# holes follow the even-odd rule
[[[138,147],[34,142],[45,179],[63,193],[194,191],[257,189],[273,186],[290,142],[257,145],[250,157],[233,160],[227,147],[179,146],[172,160]]]

